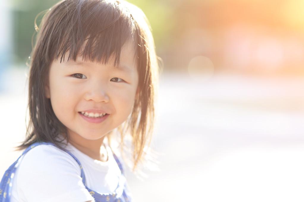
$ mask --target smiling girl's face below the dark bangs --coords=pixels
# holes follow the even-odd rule
[[[122,48],[119,68],[113,66],[113,60],[105,65],[81,58],[76,62],[53,61],[46,97],[71,139],[97,140],[126,121],[138,93],[134,55],[134,45],[129,41]],[[108,115],[88,118],[83,112]]]

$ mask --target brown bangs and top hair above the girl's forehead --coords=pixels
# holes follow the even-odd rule
[[[57,18],[50,20],[55,22],[47,42],[46,56],[50,61],[60,58],[61,62],[66,57],[76,61],[81,57],[105,64],[113,57],[114,66],[119,65],[121,49],[127,41],[134,40],[136,30],[132,15],[122,2],[78,0],[57,6],[54,10],[61,15],[50,16]],[[134,47],[136,44],[134,41]]]

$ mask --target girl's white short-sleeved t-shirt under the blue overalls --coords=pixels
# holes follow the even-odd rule
[[[94,160],[73,145],[66,147],[81,163],[88,188],[101,193],[113,192],[121,171],[110,147],[108,161]],[[53,145],[38,145],[19,159],[13,178],[11,202],[85,202],[94,198],[81,179],[79,164],[70,154]]]

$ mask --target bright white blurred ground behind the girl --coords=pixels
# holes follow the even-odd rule
[[[0,175],[25,134],[26,70],[0,93]],[[3,85],[3,84],[2,84]],[[127,172],[137,202],[304,201],[304,78],[161,77],[152,147],[158,172]]]

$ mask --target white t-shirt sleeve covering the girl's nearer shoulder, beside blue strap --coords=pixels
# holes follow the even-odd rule
[[[16,186],[26,201],[92,199],[82,183],[78,163],[56,146],[37,145],[20,160],[16,171]]]

